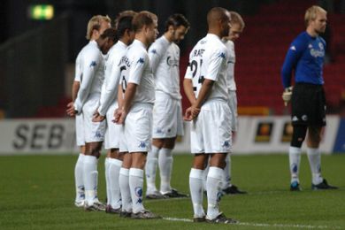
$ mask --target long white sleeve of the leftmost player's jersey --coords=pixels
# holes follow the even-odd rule
[[[96,77],[96,71],[103,62],[103,57],[99,50],[87,50],[87,59],[82,60],[80,65],[80,70],[82,74],[80,89],[78,91],[78,96],[75,99],[74,109],[81,112],[84,103],[87,101],[90,89],[94,78]]]

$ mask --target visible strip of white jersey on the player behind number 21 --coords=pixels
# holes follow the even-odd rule
[[[227,70],[226,70],[226,83],[229,90],[236,90],[236,82],[234,81],[234,64],[236,56],[234,54],[234,42],[227,40],[224,42],[228,53]]]

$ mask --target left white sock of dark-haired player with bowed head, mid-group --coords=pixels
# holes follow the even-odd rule
[[[146,158],[145,174],[146,174],[146,195],[153,194],[157,191],[156,188],[156,172],[158,162],[159,149],[152,145],[151,150]]]

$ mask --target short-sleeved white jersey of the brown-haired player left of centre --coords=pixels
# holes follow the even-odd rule
[[[137,86],[134,103],[155,103],[155,83],[153,79],[151,65],[149,64],[149,54],[145,45],[139,40],[128,47],[126,55],[121,58],[120,64],[122,90],[126,91],[128,83]]]

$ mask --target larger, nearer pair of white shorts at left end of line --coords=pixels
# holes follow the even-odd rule
[[[84,115],[85,142],[103,142],[105,133],[105,120],[93,122],[92,117],[98,107],[99,94],[88,96],[88,101],[82,107]]]

